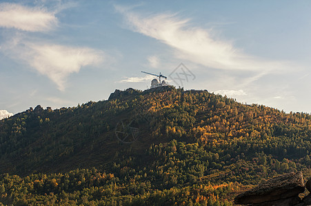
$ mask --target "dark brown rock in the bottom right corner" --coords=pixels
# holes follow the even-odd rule
[[[234,198],[234,203],[241,205],[306,205],[311,202],[311,197],[305,197],[301,201],[299,194],[305,191],[303,174],[301,172],[290,172],[274,177],[264,183],[257,185],[252,190],[239,194]]]

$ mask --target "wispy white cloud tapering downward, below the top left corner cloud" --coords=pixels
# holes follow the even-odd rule
[[[33,43],[23,38],[7,43],[3,52],[23,60],[43,76],[57,84],[59,90],[66,87],[66,79],[71,73],[78,73],[81,67],[98,65],[104,60],[101,50],[89,47],[70,47],[49,43]]]

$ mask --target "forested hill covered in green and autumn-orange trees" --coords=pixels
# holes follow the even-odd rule
[[[0,202],[232,205],[277,174],[311,176],[310,126],[307,113],[172,87],[37,106],[0,120]]]

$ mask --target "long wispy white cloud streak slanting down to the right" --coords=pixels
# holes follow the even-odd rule
[[[175,55],[214,69],[247,70],[267,73],[290,68],[284,61],[265,60],[245,54],[230,41],[220,40],[210,30],[192,27],[190,19],[176,14],[144,16],[120,7],[131,30],[155,38],[174,48]],[[286,62],[288,63],[288,62]]]

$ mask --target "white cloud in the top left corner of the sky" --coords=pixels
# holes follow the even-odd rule
[[[0,3],[0,27],[28,32],[46,32],[57,25],[54,12],[16,3]]]

